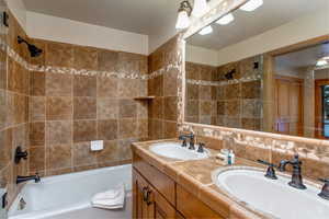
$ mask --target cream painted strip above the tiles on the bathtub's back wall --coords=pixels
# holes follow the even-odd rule
[[[26,18],[27,34],[32,38],[148,55],[147,35],[31,11]]]

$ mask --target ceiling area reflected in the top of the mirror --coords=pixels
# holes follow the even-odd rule
[[[214,32],[208,35],[193,35],[188,44],[209,49],[222,49],[249,37],[281,26],[297,18],[329,10],[328,0],[263,0],[261,8],[253,12],[236,10],[235,21],[228,25],[213,24]]]

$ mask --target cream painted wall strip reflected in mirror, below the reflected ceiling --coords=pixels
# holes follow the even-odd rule
[[[307,30],[307,31],[306,31]],[[218,51],[218,66],[329,33],[328,11],[307,15]]]

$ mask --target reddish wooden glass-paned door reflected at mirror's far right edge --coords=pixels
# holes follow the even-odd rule
[[[328,79],[319,79],[315,81],[315,137],[316,138],[322,138],[328,139],[328,131],[326,130],[329,127],[328,122],[328,112],[326,112],[326,107],[324,107],[324,101],[326,95],[324,94],[324,87],[329,85]],[[328,89],[327,89],[328,90]],[[325,134],[326,132],[326,134]]]

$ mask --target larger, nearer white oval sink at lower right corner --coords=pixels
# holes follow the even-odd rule
[[[213,174],[219,188],[264,215],[281,219],[329,218],[329,200],[317,195],[320,188],[304,181],[307,189],[296,189],[287,185],[290,177],[277,177],[266,178],[263,170],[250,168],[224,169]]]

